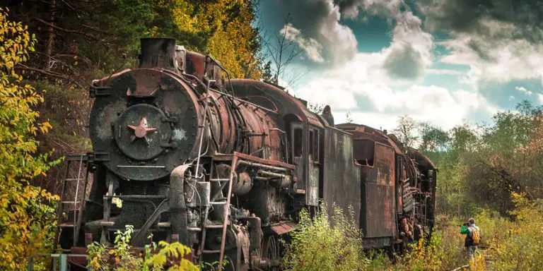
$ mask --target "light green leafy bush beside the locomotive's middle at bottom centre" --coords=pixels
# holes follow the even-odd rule
[[[332,208],[332,217],[324,204],[313,219],[308,210],[300,212],[299,227],[286,245],[286,270],[366,270],[369,260],[361,251],[362,234],[354,213],[349,210],[346,216],[339,207]]]

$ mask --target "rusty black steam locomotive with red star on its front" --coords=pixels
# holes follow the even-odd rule
[[[139,68],[93,81],[91,97],[93,181],[68,211],[73,223],[59,222],[71,253],[130,224],[135,247],[152,234],[204,262],[228,259],[221,269],[276,269],[279,239],[320,200],[354,207],[365,248],[392,247],[399,217],[433,227],[427,157],[368,126],[329,126],[278,86],[230,79],[175,40],[142,39]]]

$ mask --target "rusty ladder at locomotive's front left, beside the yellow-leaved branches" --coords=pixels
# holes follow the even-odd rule
[[[76,246],[78,239],[78,232],[81,228],[81,219],[83,218],[83,206],[85,202],[85,195],[88,183],[88,164],[86,155],[69,155],[66,157],[66,174],[62,179],[59,207],[57,209],[57,232],[55,233],[54,247],[57,249],[59,243],[60,234],[64,229],[72,229],[74,233],[74,239],[72,246]],[[70,170],[72,163],[78,164],[77,175]],[[83,173],[83,167],[86,167],[86,173]],[[84,177],[83,177],[84,174]],[[72,194],[73,198],[69,195],[68,189],[66,189],[66,183],[76,183],[76,193]],[[81,183],[83,183],[83,189],[80,190]],[[67,212],[66,212],[67,211]],[[70,217],[70,212],[73,212]]]

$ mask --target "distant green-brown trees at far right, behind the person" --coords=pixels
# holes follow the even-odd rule
[[[443,131],[399,119],[395,134],[439,168],[438,209],[469,217],[478,208],[509,216],[510,193],[543,198],[542,107],[521,102],[515,111],[498,112],[493,124],[461,124]]]

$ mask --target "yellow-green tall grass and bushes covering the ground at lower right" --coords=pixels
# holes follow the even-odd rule
[[[362,235],[352,210],[344,214],[332,206],[334,215],[329,217],[322,205],[313,218],[307,211],[300,214],[300,227],[293,232],[292,243],[286,245],[283,267],[296,271],[448,271],[469,265],[469,270],[484,270],[486,255],[494,260],[496,270],[543,270],[543,202],[527,200],[520,194],[513,194],[513,202],[515,209],[510,213],[516,221],[484,209],[473,215],[483,238],[473,260],[467,258],[465,235],[460,234],[467,218],[440,215],[431,240],[411,245],[409,253],[398,256],[395,265],[384,254],[362,250]]]

